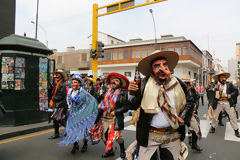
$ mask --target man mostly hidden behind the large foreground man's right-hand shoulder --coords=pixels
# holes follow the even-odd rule
[[[192,118],[190,123],[186,124],[189,132],[191,133],[191,136],[188,137],[189,139],[189,144],[191,145],[191,148],[201,152],[202,149],[200,146],[197,144],[197,140],[202,138],[202,133],[200,129],[200,120],[197,116],[197,102],[199,101],[199,95],[196,92],[195,88],[192,86],[192,79],[190,78],[189,75],[183,75],[182,76],[182,81],[185,82],[188,86],[189,94],[191,97],[194,98],[194,110],[192,113]]]

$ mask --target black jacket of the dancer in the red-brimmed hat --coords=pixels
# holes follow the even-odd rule
[[[105,95],[105,94],[104,94]],[[102,99],[104,96],[102,96]],[[114,130],[120,131],[124,129],[124,113],[128,111],[131,103],[128,101],[128,92],[121,91],[117,97],[116,104],[114,107],[114,114],[116,119],[114,121]],[[100,109],[95,124],[103,115],[103,110]]]

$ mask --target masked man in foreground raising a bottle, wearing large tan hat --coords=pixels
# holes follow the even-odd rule
[[[138,70],[146,76],[141,92],[137,92],[135,82],[129,85],[131,109],[140,107],[138,160],[151,159],[158,148],[163,159],[178,160],[180,155],[180,140],[183,141],[185,136],[184,123],[189,123],[192,117],[193,99],[186,84],[171,74],[178,59],[178,54],[173,51],[153,52],[138,64]]]

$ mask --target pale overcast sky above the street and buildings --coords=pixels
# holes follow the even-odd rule
[[[49,48],[65,51],[68,46],[88,48],[92,33],[92,4],[120,0],[39,0],[38,39]],[[146,0],[136,0],[137,3]],[[37,0],[16,0],[16,34],[35,36]],[[235,56],[240,42],[239,0],[168,0],[99,18],[99,31],[124,41],[154,39],[153,9],[157,37],[184,36],[201,50],[209,50],[223,65]]]

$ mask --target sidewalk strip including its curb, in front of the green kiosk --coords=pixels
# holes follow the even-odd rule
[[[53,128],[53,124],[49,124],[48,121],[16,127],[0,126],[0,140],[26,135],[50,128]]]

